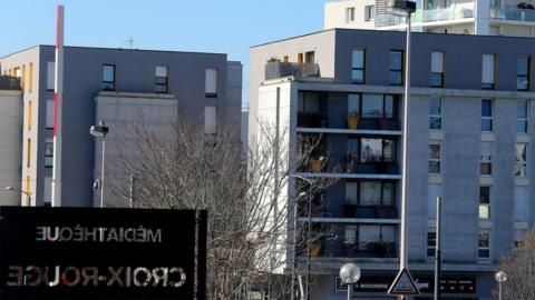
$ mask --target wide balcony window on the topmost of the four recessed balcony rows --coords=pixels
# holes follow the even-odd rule
[[[396,101],[391,94],[349,94],[348,112],[361,118],[393,118]]]

